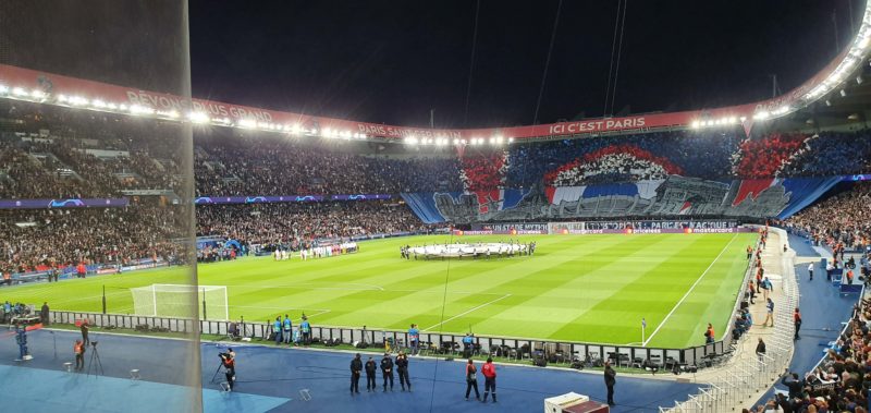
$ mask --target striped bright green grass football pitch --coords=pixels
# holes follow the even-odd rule
[[[519,235],[535,256],[405,260],[400,246],[499,242],[506,235],[430,235],[361,242],[356,254],[302,262],[247,257],[198,266],[200,284],[226,286],[230,317],[267,321],[303,313],[312,325],[680,348],[725,331],[752,233]],[[52,309],[133,312],[130,288],[186,283],[181,268],[0,289],[0,299]],[[719,338],[719,337],[717,337]]]

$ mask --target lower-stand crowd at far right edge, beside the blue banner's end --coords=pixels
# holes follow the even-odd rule
[[[783,224],[818,244],[848,248],[871,245],[871,183],[858,182],[852,187],[807,207]]]

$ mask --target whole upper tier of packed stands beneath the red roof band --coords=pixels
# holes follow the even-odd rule
[[[869,131],[771,134],[673,131],[504,147],[409,146],[220,129],[195,130],[198,196],[487,191],[637,182],[861,173]],[[177,191],[183,127],[90,111],[0,102],[0,197],[110,197]],[[38,185],[30,184],[38,181]]]

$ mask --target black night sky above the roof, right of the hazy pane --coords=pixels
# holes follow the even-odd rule
[[[628,0],[614,112],[797,86],[851,37],[859,0]],[[191,1],[194,96],[402,125],[531,124],[557,1]],[[603,112],[616,0],[563,2],[539,123]]]

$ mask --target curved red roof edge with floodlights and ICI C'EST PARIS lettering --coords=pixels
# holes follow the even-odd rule
[[[714,109],[594,118],[516,127],[422,129],[282,112],[189,99],[135,87],[115,86],[0,65],[0,97],[50,105],[232,126],[294,135],[344,139],[403,139],[414,145],[504,145],[516,139],[562,138],[660,127],[734,127],[782,118],[821,99],[833,98],[846,85],[861,82],[871,52],[871,4],[866,4],[856,37],[822,71],[775,98]]]

